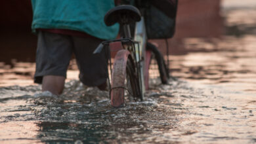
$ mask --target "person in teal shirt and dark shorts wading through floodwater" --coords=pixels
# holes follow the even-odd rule
[[[112,7],[114,0],[32,0],[32,31],[38,35],[34,82],[42,84],[43,91],[62,93],[72,53],[79,80],[106,88],[104,50],[96,55],[93,51],[103,40],[116,38],[118,26],[104,24]]]

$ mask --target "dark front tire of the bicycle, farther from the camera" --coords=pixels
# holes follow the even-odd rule
[[[146,43],[146,49],[151,50],[156,58],[156,62],[158,63],[158,70],[160,73],[160,79],[162,84],[167,84],[169,79],[169,70],[167,69],[167,65],[163,59],[161,52],[158,48],[151,43]],[[152,58],[152,57],[151,57]],[[151,61],[151,60],[150,60]]]

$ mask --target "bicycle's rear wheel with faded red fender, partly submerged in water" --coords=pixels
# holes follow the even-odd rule
[[[112,69],[110,91],[111,105],[113,107],[122,107],[125,101],[129,100],[129,98],[131,100],[131,96],[135,100],[138,98],[142,100],[139,79],[137,79],[135,72],[135,65],[130,56],[128,56],[127,59],[118,58],[118,56],[116,56]],[[125,96],[127,99],[125,99]]]

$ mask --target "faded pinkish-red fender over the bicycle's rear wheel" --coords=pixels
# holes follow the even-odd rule
[[[111,105],[121,107],[124,104],[123,93],[125,88],[125,75],[127,58],[130,55],[128,50],[119,50],[116,54],[111,77]]]

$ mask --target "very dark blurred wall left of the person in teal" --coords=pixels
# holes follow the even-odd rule
[[[0,62],[34,62],[37,38],[30,28],[30,0],[3,0],[0,7]]]

